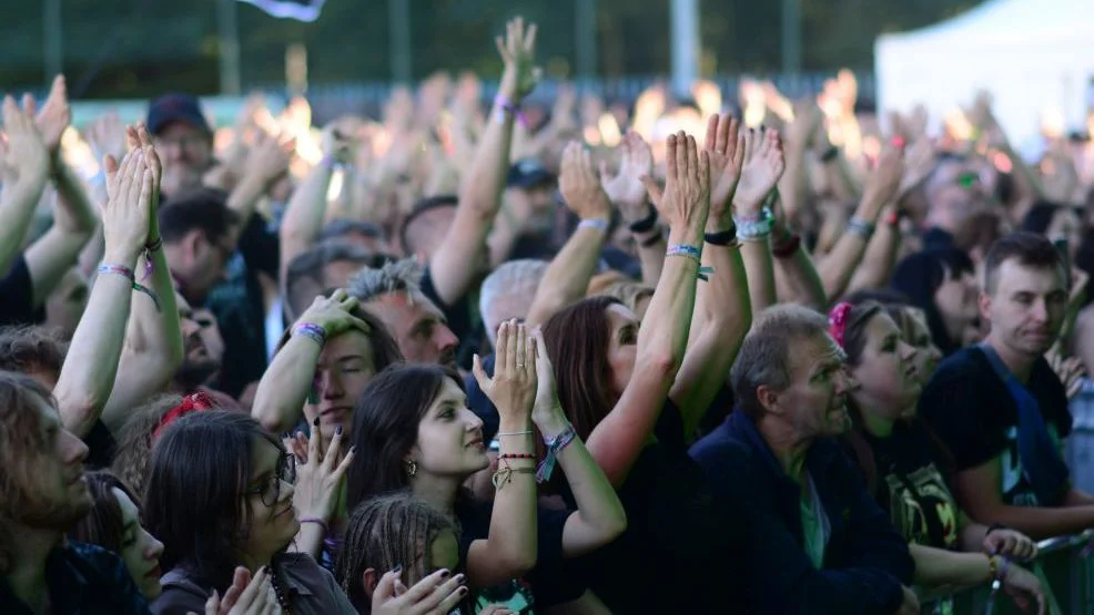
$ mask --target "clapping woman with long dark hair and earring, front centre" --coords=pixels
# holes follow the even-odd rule
[[[493,378],[477,357],[474,370],[500,419],[493,504],[472,501],[463,486],[490,465],[483,421],[467,409],[463,379],[447,368],[418,363],[388,368],[361,396],[346,500],[356,508],[408,488],[459,522],[458,561],[476,591],[474,601],[527,613],[581,598],[585,585],[561,570],[563,558],[611,542],[626,527],[626,516],[565,419],[541,337],[529,336],[515,321],[503,322],[496,352]],[[537,470],[533,426],[553,442],[551,459],[574,490],[575,512],[537,511],[536,479],[549,478],[555,461]],[[531,592],[514,581],[521,577]]]

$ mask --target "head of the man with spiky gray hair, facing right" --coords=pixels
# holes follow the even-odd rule
[[[444,312],[422,291],[422,267],[413,258],[363,269],[350,279],[350,295],[379,318],[408,361],[456,367],[459,340]]]

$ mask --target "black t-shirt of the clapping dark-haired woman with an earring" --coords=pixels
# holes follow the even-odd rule
[[[494,504],[490,502],[457,502],[462,566],[467,565],[467,552],[472,543],[490,535],[493,513]],[[524,578],[479,591],[473,596],[477,605],[476,613],[486,605],[502,604],[518,615],[525,615],[581,597],[587,588],[586,583],[573,570],[563,565],[563,529],[570,514],[571,511],[539,509],[536,524],[536,567]]]

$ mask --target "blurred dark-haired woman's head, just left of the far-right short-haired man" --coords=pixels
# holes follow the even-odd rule
[[[975,335],[980,286],[969,255],[956,248],[915,253],[893,271],[892,287],[926,315],[934,345],[950,356]]]

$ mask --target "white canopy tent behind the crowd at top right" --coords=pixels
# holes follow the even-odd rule
[[[989,0],[949,21],[874,44],[878,109],[922,104],[936,121],[976,92],[1016,143],[1039,134],[1044,112],[1081,129],[1094,79],[1094,0]]]

